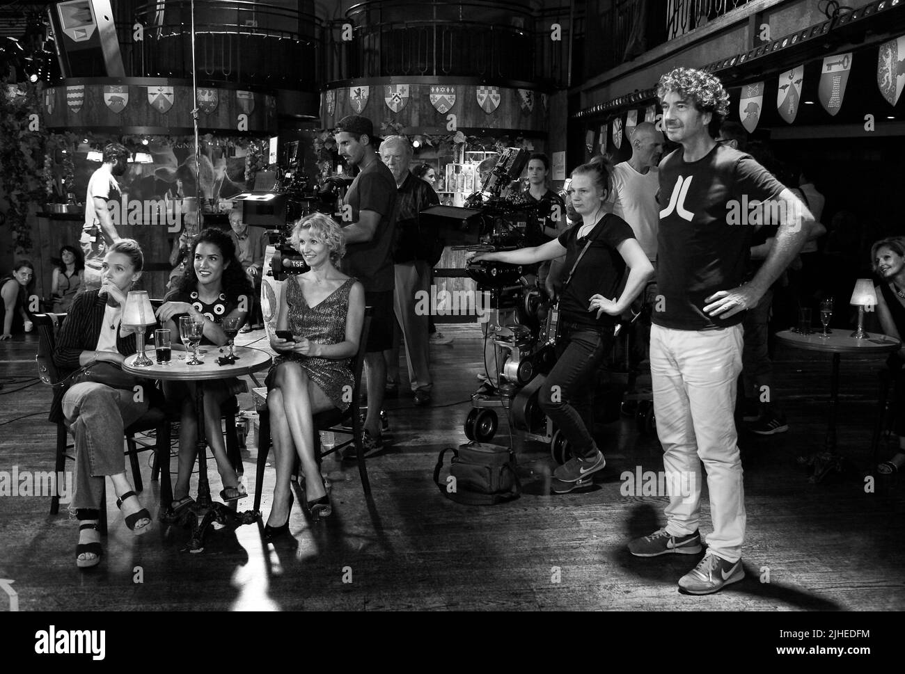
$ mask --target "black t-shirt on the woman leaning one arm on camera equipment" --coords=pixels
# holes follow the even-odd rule
[[[558,238],[567,251],[566,263],[563,265],[564,283],[587,240],[591,240],[591,247],[587,249],[559,299],[561,319],[591,328],[612,328],[616,317],[601,314],[600,318],[596,318],[597,312],[587,309],[592,295],[603,295],[607,299],[617,297],[625,274],[625,261],[616,246],[626,239],[633,239],[634,233],[628,223],[611,213],[604,214],[581,239],[578,238],[579,229],[580,225],[570,227]]]

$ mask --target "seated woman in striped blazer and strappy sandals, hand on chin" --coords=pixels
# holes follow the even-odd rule
[[[62,371],[75,371],[94,363],[122,365],[126,356],[136,352],[133,330],[120,326],[126,295],[141,276],[144,256],[138,242],[120,239],[110,246],[101,266],[100,290],[81,293],[72,301],[60,328],[53,363]],[[100,563],[98,517],[104,479],[110,476],[116,490],[117,505],[126,526],[136,536],[148,533],[151,516],[141,507],[126,475],[126,455],[122,451],[123,429],[137,422],[148,411],[153,386],[148,383],[144,396],[130,389],[115,388],[97,382],[71,385],[62,394],[62,414],[75,437],[75,495],[72,508],[80,522],[76,565],[80,568]],[[136,398],[140,398],[137,402]],[[61,401],[54,399],[51,421],[60,411]]]

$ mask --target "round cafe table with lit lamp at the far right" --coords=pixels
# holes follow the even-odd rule
[[[850,355],[882,355],[895,351],[901,347],[901,343],[892,337],[872,334],[864,339],[852,337],[850,329],[835,328],[826,338],[821,337],[821,331],[803,335],[795,330],[783,330],[776,333],[776,338],[795,348],[806,351],[823,351],[833,355],[833,373],[830,378],[830,404],[826,423],[826,436],[824,438],[824,450],[817,451],[808,457],[801,457],[799,461],[805,465],[813,466],[814,473],[811,482],[820,482],[832,470],[842,470],[843,457],[836,452],[836,416],[839,408],[839,361],[843,354]]]

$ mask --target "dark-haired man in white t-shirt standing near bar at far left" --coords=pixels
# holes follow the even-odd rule
[[[121,238],[110,217],[110,204],[119,203],[119,183],[117,177],[126,173],[131,153],[119,143],[104,147],[103,164],[91,174],[88,192],[85,195],[85,223],[81,228],[81,252],[85,256],[85,271],[79,287],[81,294],[86,290],[100,290],[100,265],[107,249]]]

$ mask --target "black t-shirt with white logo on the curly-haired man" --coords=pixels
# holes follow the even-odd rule
[[[722,145],[696,162],[679,148],[660,164],[660,228],[653,323],[678,330],[738,325],[740,311],[710,318],[705,298],[745,279],[751,202],[775,199],[783,185],[753,157]]]

